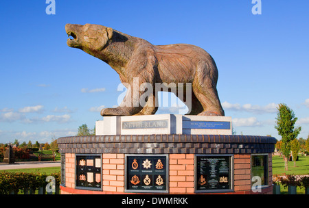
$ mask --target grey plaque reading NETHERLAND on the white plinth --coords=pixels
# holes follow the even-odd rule
[[[161,129],[168,128],[168,120],[137,120],[122,122],[122,129]]]

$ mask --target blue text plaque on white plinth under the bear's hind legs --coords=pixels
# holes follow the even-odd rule
[[[231,129],[231,122],[184,120],[183,129]]]

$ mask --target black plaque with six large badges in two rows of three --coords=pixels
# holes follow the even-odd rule
[[[126,192],[168,192],[168,155],[126,155]]]

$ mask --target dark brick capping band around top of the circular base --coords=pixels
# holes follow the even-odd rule
[[[58,138],[60,153],[273,153],[277,140],[255,135],[89,135]]]

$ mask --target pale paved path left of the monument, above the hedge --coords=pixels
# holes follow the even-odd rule
[[[45,167],[60,167],[60,161],[16,162],[10,165],[0,164],[0,170],[23,169],[23,168],[45,168]]]

